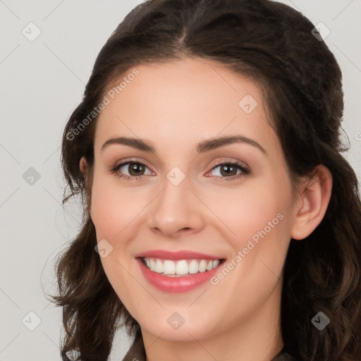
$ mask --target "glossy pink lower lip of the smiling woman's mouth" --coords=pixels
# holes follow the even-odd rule
[[[197,272],[196,274],[190,274],[184,277],[168,277],[161,276],[161,274],[151,271],[143,264],[142,259],[140,258],[137,258],[137,262],[140,264],[140,269],[142,270],[145,279],[147,279],[152,286],[163,292],[169,293],[187,292],[202,286],[203,283],[209,281],[209,279],[219,272],[219,267],[224,263],[224,261],[220,262],[216,268],[211,269],[210,271]]]

